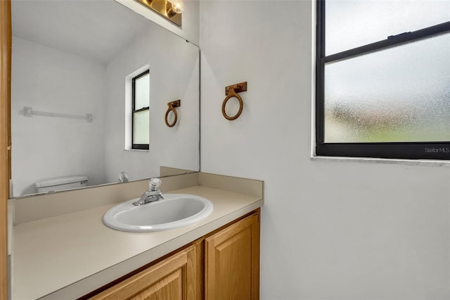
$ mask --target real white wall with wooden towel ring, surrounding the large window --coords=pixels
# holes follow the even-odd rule
[[[265,180],[261,298],[449,299],[450,169],[309,158],[312,9],[200,3],[201,170]]]

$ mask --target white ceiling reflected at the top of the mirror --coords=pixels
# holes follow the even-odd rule
[[[13,36],[106,63],[150,22],[114,0],[13,0]]]

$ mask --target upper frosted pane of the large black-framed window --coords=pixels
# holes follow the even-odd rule
[[[327,0],[326,55],[450,20],[448,0]]]

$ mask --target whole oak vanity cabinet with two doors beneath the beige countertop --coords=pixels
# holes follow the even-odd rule
[[[259,209],[90,299],[259,299]]]

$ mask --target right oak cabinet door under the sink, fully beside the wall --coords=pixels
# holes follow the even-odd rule
[[[259,214],[205,239],[205,299],[259,299]]]

